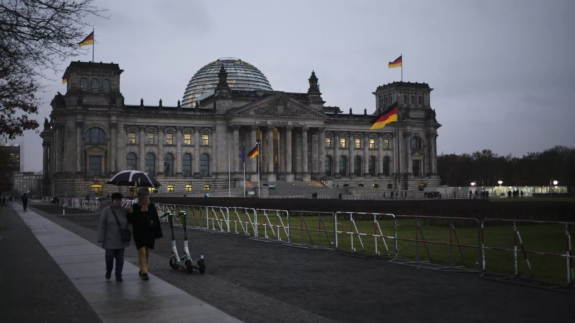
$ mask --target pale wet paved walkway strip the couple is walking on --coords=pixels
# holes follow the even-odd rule
[[[30,210],[17,210],[28,228],[102,322],[241,322],[185,291],[124,262],[124,282],[104,278],[104,249]]]

